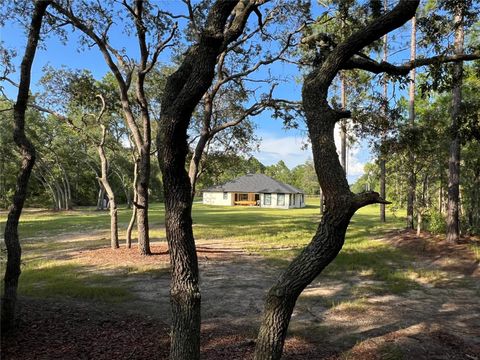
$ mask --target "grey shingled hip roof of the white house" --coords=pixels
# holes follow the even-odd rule
[[[212,186],[204,192],[252,192],[303,194],[294,186],[284,184],[264,174],[247,174],[222,185]]]

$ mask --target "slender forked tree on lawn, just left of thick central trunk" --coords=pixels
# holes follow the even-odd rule
[[[150,153],[152,145],[151,112],[145,92],[147,75],[154,69],[162,51],[171,46],[177,26],[165,12],[157,6],[142,0],[135,0],[133,5],[127,1],[121,3],[121,10],[97,3],[95,6],[87,2],[78,2],[76,6],[65,5],[55,1],[52,7],[62,16],[62,20],[73,24],[85,35],[84,43],[93,41],[101,51],[106,64],[113,73],[118,86],[119,98],[125,121],[131,132],[137,152],[137,230],[138,244],[142,255],[150,255],[150,239],[148,225],[148,196],[150,183]],[[109,41],[109,31],[115,16],[124,14],[132,21],[132,29],[137,37],[140,59],[135,62],[124,50],[115,49]],[[88,39],[88,40],[87,40]],[[115,62],[116,60],[116,62]],[[129,93],[132,82],[135,82],[135,95]],[[133,99],[134,98],[134,99]]]

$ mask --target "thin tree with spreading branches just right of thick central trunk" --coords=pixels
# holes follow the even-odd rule
[[[284,6],[287,8],[288,6]],[[253,134],[254,125],[250,118],[259,115],[266,109],[273,109],[277,117],[285,118],[291,111],[296,110],[298,104],[284,99],[274,99],[273,91],[277,85],[272,75],[259,77],[259,69],[284,61],[289,52],[295,47],[295,35],[301,31],[298,29],[283,34],[278,31],[278,23],[282,16],[281,7],[273,7],[266,16],[260,19],[258,26],[248,28],[238,41],[226,47],[218,56],[215,66],[215,77],[212,85],[202,97],[199,109],[194,116],[194,125],[190,127],[196,130],[194,136],[196,143],[193,146],[192,157],[189,165],[189,177],[192,194],[195,194],[196,182],[200,175],[201,160],[205,152],[219,147],[224,151],[248,153],[252,144],[257,139]],[[284,11],[284,10],[283,10]],[[289,16],[293,16],[292,13]],[[268,32],[270,23],[276,22],[276,31]],[[194,22],[194,19],[191,20]],[[275,23],[274,23],[275,24]],[[198,29],[194,26],[197,32]],[[262,47],[252,46],[252,38],[255,35],[264,37],[274,43],[278,50],[264,51]],[[281,44],[278,46],[278,44]],[[254,43],[253,43],[254,44]],[[268,91],[259,94],[259,89],[249,89],[247,81],[255,78],[255,82],[273,84]],[[255,101],[252,102],[252,99]],[[257,100],[258,99],[258,100]]]

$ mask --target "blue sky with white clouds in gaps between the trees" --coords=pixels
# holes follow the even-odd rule
[[[175,10],[177,3],[171,1],[162,1],[167,8],[170,7]],[[77,50],[78,31],[70,32],[70,43],[62,44],[55,36],[49,37],[45,41],[45,46],[40,48],[37,52],[33,70],[32,70],[32,89],[35,91],[38,80],[42,77],[42,68],[45,65],[53,67],[67,66],[72,69],[86,68],[92,72],[96,78],[103,77],[108,68],[104,62],[103,57],[96,47]],[[18,25],[9,23],[1,29],[0,40],[6,48],[17,48],[21,55],[23,47],[26,42],[23,29]],[[135,55],[137,53],[136,42],[131,38],[115,32],[112,36],[112,42],[115,45],[122,45],[129,54]],[[73,45],[72,45],[73,43]],[[21,44],[19,46],[19,44]],[[164,55],[163,61],[168,61]],[[20,56],[15,60],[17,68]],[[295,78],[298,76],[298,70],[294,65],[276,64],[273,68],[274,72],[284,74],[288,78]],[[11,77],[18,80],[18,73],[12,74]],[[295,81],[280,84],[275,95],[291,100],[299,100],[301,92],[301,84]],[[15,89],[6,86],[6,93],[14,98],[16,95]],[[304,163],[307,159],[311,159],[311,150],[304,149],[306,143],[305,126],[300,126],[300,129],[285,130],[282,126],[282,121],[273,119],[270,113],[264,112],[255,119],[257,125],[258,137],[262,139],[259,151],[254,153],[265,165],[270,165],[283,160],[288,167],[293,168]],[[338,136],[337,136],[338,138]],[[371,154],[365,142],[356,144],[348,152],[348,178],[349,182],[354,182],[363,173],[363,166],[366,162],[371,160]]]

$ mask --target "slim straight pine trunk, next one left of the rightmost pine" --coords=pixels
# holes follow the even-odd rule
[[[416,17],[412,18],[412,31],[410,37],[410,60],[413,61],[417,57],[417,22]],[[409,86],[409,104],[408,119],[411,129],[415,128],[415,68],[410,70],[410,86]],[[413,229],[413,211],[415,209],[415,189],[417,187],[417,177],[415,174],[415,154],[413,146],[410,146],[408,154],[408,194],[407,194],[407,229]]]

